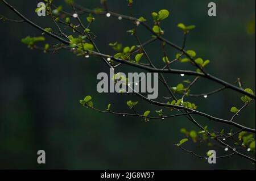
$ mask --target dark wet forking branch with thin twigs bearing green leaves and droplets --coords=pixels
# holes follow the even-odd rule
[[[6,6],[9,7],[9,9],[11,9],[12,11],[15,12],[15,14],[17,14],[20,18],[22,18],[23,20],[11,20],[13,22],[17,22],[17,23],[23,23],[23,22],[26,22],[28,24],[30,24],[31,26],[34,26],[35,28],[37,28],[38,30],[46,33],[47,35],[53,37],[54,39],[60,41],[61,43],[67,45],[61,45],[60,47],[56,47],[56,48],[51,48],[51,49],[48,49],[47,51],[51,51],[51,52],[55,52],[56,50],[60,50],[60,49],[70,49],[69,48],[69,45],[71,44],[70,41],[67,41],[67,40],[64,40],[63,38],[61,38],[60,36],[64,36],[64,37],[67,37],[67,35],[65,35],[61,30],[60,30],[60,27],[57,25],[57,22],[55,21],[55,19],[53,19],[53,21],[55,22],[56,26],[59,28],[59,31],[61,32],[61,35],[57,35],[56,33],[54,32],[47,32],[46,30],[44,30],[42,27],[38,26],[37,24],[35,24],[34,22],[31,22],[31,20],[27,19],[24,15],[22,15],[19,11],[17,11],[13,6],[11,6],[9,3],[7,3],[5,0],[1,0],[3,3],[5,3]],[[53,7],[56,7],[55,5],[51,4]],[[72,5],[72,8],[73,8],[73,11],[75,11],[75,13],[77,13],[78,15],[82,15],[82,14],[85,14],[85,13],[91,13],[91,14],[97,14],[97,15],[106,15],[106,13],[110,13],[112,16],[114,17],[121,17],[122,19],[126,19],[126,20],[131,20],[133,22],[138,22],[138,19],[137,18],[134,18],[132,16],[126,16],[126,15],[121,15],[121,14],[117,14],[117,13],[114,13],[114,12],[110,12],[108,11],[108,9],[106,8],[106,4],[105,4],[105,10],[106,11],[102,11],[102,12],[97,12],[94,11],[94,10],[89,10],[89,9],[85,9],[84,7],[81,7],[80,5],[77,5],[76,3],[74,3]],[[79,9],[80,11],[76,11],[76,9]],[[60,11],[62,12],[63,14],[66,14],[68,16],[72,16],[71,13],[69,12],[66,12],[66,11]],[[51,14],[51,12],[50,12]],[[52,16],[52,14],[51,14]],[[53,18],[53,16],[52,16]],[[7,20],[7,19],[6,19]],[[78,17],[77,18],[77,21],[80,25],[80,27],[84,28],[85,30],[85,26],[82,24],[82,21],[81,19]],[[63,21],[60,20],[60,23],[62,24],[65,24],[66,26],[70,27],[70,28],[73,28],[73,30],[75,30],[76,32],[80,33],[80,35],[85,35],[84,32],[81,32],[80,30],[77,30],[76,28],[72,27],[71,24],[68,24],[68,23],[65,23]],[[167,88],[167,90],[170,92],[170,95],[171,95],[171,98],[170,99],[174,99],[177,101],[177,98],[175,97],[174,95],[174,92],[172,92],[172,90],[170,89],[170,87],[168,86],[164,76],[162,73],[164,74],[167,74],[167,73],[171,73],[171,74],[184,74],[184,75],[195,75],[196,78],[195,80],[189,84],[188,86],[188,89],[191,88],[191,86],[197,81],[197,79],[199,77],[203,77],[203,78],[206,78],[206,79],[209,79],[211,81],[214,81],[214,82],[217,82],[217,83],[220,83],[221,85],[223,85],[224,87],[222,87],[221,89],[218,89],[218,90],[215,90],[215,91],[212,91],[212,92],[209,92],[207,94],[200,94],[200,95],[193,95],[193,94],[189,94],[187,95],[187,92],[185,92],[183,94],[183,98],[182,100],[184,99],[184,96],[187,95],[187,96],[205,96],[205,95],[212,95],[212,94],[215,94],[217,92],[220,92],[222,90],[225,90],[225,89],[231,89],[231,90],[234,90],[234,91],[237,91],[237,92],[240,92],[242,93],[243,95],[247,95],[249,98],[251,99],[255,99],[255,95],[254,94],[251,94],[250,92],[247,92],[245,90],[242,89],[242,87],[237,87],[237,86],[234,86],[228,82],[225,82],[223,81],[222,79],[219,79],[217,77],[214,77],[213,75],[210,75],[208,73],[205,72],[205,70],[203,68],[201,68],[201,66],[199,66],[198,64],[196,64],[195,60],[187,53],[187,51],[184,49],[185,48],[185,42],[187,40],[187,33],[184,33],[184,40],[183,40],[183,46],[182,48],[180,48],[179,46],[177,46],[176,44],[172,43],[171,41],[168,41],[166,39],[164,39],[164,37],[160,36],[158,33],[155,33],[154,31],[152,31],[152,29],[145,23],[145,22],[140,22],[140,24],[142,24],[142,26],[144,28],[146,28],[146,30],[150,31],[152,33],[152,35],[154,35],[155,37],[151,40],[148,40],[146,43],[142,44],[141,41],[139,40],[139,37],[137,36],[137,34],[135,33],[135,37],[137,38],[137,41],[139,43],[139,46],[133,50],[133,52],[131,53],[137,53],[139,51],[142,50],[142,52],[146,55],[146,58],[147,58],[147,61],[148,61],[148,64],[142,64],[142,63],[139,63],[139,64],[135,64],[134,62],[130,62],[130,61],[127,61],[127,60],[123,60],[122,58],[114,58],[114,56],[109,56],[108,54],[103,54],[100,52],[100,50],[97,48],[96,44],[94,43],[93,39],[90,38],[90,36],[86,36],[86,39],[88,39],[90,41],[90,43],[93,44],[93,47],[96,49],[96,52],[95,51],[88,51],[88,50],[85,50],[84,53],[86,54],[90,54],[92,56],[96,56],[96,57],[100,57],[105,63],[106,65],[108,65],[109,68],[114,68],[114,67],[117,67],[119,65],[122,65],[122,64],[126,64],[126,65],[130,65],[132,67],[137,67],[137,68],[140,68],[140,69],[143,69],[143,70],[147,70],[147,71],[150,71],[150,72],[156,72],[156,73],[160,73],[160,77],[162,79],[160,79],[160,81],[164,84],[164,86]],[[90,23],[88,24],[88,27],[90,26]],[[160,28],[160,27],[159,27]],[[163,69],[158,69],[154,66],[154,64],[152,64],[152,61],[150,60],[150,57],[148,56],[146,50],[144,49],[144,46],[146,46],[147,44],[150,44],[152,42],[154,42],[155,40],[160,40],[162,43],[166,43],[167,45],[170,45],[171,47],[179,50],[181,52],[181,56],[185,55],[186,57],[189,58],[189,60],[191,60],[192,62],[192,65],[196,66],[200,71],[201,73],[197,72],[197,71],[191,71],[191,70],[176,70],[176,69],[171,69],[169,67],[169,64],[167,64],[166,66],[164,66]],[[43,48],[40,48],[40,47],[36,47],[34,46],[35,49],[43,49]],[[80,48],[79,45],[76,45],[76,48]],[[166,55],[167,53],[164,51],[164,54]],[[119,62],[118,65],[110,65],[110,63],[108,62],[108,58],[111,58],[111,60],[115,61],[115,62]],[[174,60],[174,61],[171,61],[170,64],[174,63],[177,61],[177,58]],[[167,68],[167,69],[166,69]],[[175,110],[179,110],[181,113],[180,114],[176,114],[176,115],[170,115],[170,116],[159,116],[159,117],[144,117],[143,115],[140,115],[139,113],[137,113],[134,108],[132,109],[134,111],[134,114],[130,114],[130,113],[123,113],[123,115],[129,115],[129,116],[139,116],[139,117],[144,117],[144,118],[147,118],[147,119],[162,119],[162,118],[170,118],[170,117],[176,117],[176,116],[185,116],[187,117],[189,120],[192,121],[193,124],[197,125],[197,127],[199,127],[202,131],[204,130],[204,128],[199,124],[197,123],[197,121],[192,117],[192,115],[200,115],[200,116],[203,116],[203,117],[207,117],[208,119],[210,120],[213,120],[213,121],[217,121],[217,122],[220,122],[220,123],[225,123],[225,124],[228,124],[228,125],[232,125],[234,127],[237,127],[237,128],[240,128],[241,131],[248,131],[248,132],[252,132],[252,133],[255,133],[255,129],[252,129],[252,128],[247,128],[243,125],[240,125],[238,123],[234,123],[233,122],[233,119],[234,117],[236,117],[238,115],[239,112],[241,112],[243,110],[244,107],[242,107],[238,113],[236,113],[231,120],[225,120],[225,119],[220,119],[220,118],[217,118],[217,117],[214,117],[214,116],[210,116],[208,115],[207,113],[203,113],[203,112],[200,112],[200,111],[196,111],[196,110],[193,110],[191,108],[187,108],[187,107],[184,107],[184,106],[176,106],[176,105],[171,105],[171,104],[166,104],[166,103],[160,103],[160,102],[156,102],[154,100],[150,100],[150,99],[147,99],[146,97],[144,97],[143,95],[139,94],[138,92],[134,92],[134,94],[138,95],[141,99],[144,99],[146,100],[148,103],[151,103],[151,104],[154,104],[156,106],[160,106],[160,107],[170,107],[170,108],[173,108]],[[90,107],[90,108],[93,108],[93,107]],[[100,112],[105,112],[105,113],[114,113],[114,114],[117,114],[117,115],[121,115],[122,113],[118,113],[118,112],[112,112],[112,111],[102,111],[102,110],[98,110],[96,108],[93,108],[94,110],[96,111],[100,111]],[[184,112],[183,112],[184,111]],[[237,132],[235,133],[233,136],[235,136],[236,134],[238,133],[241,133],[240,132]],[[208,131],[207,132],[207,136],[210,137],[210,133]],[[230,136],[233,138],[233,136]],[[232,146],[229,146],[228,144],[225,144],[225,142],[221,141],[220,138],[218,137],[214,137],[214,140],[216,140],[218,143],[220,143],[221,145],[223,146],[226,146],[227,148],[229,148],[230,150],[233,151],[233,154],[237,154],[237,155],[240,155],[241,157],[243,158],[246,158],[246,159],[249,159],[250,161],[253,161],[255,162],[255,159],[253,158],[250,158],[248,157],[247,155],[244,155],[236,150],[234,150],[232,148]],[[224,156],[223,158],[225,157],[228,157],[229,155],[226,155]]]

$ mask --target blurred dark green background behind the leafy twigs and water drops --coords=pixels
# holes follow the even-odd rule
[[[53,27],[49,23],[51,19],[35,14],[40,1],[7,2],[40,26]],[[76,2],[89,9],[101,7],[100,1]],[[121,14],[144,16],[151,26],[151,12],[170,10],[170,17],[162,23],[164,36],[178,45],[182,43],[183,33],[177,24],[195,24],[196,29],[188,36],[187,49],[193,49],[198,56],[211,61],[207,68],[209,73],[230,83],[241,78],[245,88],[255,90],[255,1],[214,0],[217,3],[216,17],[207,14],[209,2],[135,0],[129,10],[125,0],[109,0],[108,6],[111,11]],[[64,4],[64,1],[56,1],[56,4]],[[72,12],[70,7],[63,7]],[[0,14],[17,18],[2,2]],[[82,20],[86,21],[86,15]],[[109,43],[137,44],[136,39],[126,33],[131,28],[133,24],[126,20],[96,16],[90,30],[97,35],[100,50],[113,54]],[[250,161],[237,156],[209,165],[207,161],[178,149],[174,144],[184,138],[180,128],[198,131],[185,117],[144,123],[136,117],[102,114],[82,107],[79,100],[92,95],[95,107],[105,109],[112,103],[114,110],[130,111],[126,101],[138,98],[130,94],[98,94],[96,76],[101,71],[109,71],[100,59],[76,57],[68,50],[52,54],[28,49],[20,39],[41,35],[28,24],[0,22],[0,35],[0,169],[255,169]],[[139,36],[142,41],[151,37],[143,27],[139,27]],[[51,37],[46,38],[51,44],[56,43]],[[155,42],[146,49],[155,64],[162,66],[159,47],[160,44]],[[177,53],[172,48],[167,52],[170,57]],[[185,65],[175,65],[174,68],[181,66],[186,68]],[[141,70],[122,66],[118,71]],[[170,86],[176,86],[192,77],[168,75],[167,79]],[[202,79],[193,93],[218,87],[220,85]],[[166,91],[160,93],[159,100],[168,96]],[[188,100],[195,102],[200,111],[229,119],[232,116],[230,107],[242,106],[240,97],[237,92],[225,90],[208,99]],[[154,107],[139,101],[139,112],[154,111]],[[196,118],[212,130],[220,131],[223,127],[230,130],[226,125]],[[255,128],[255,104],[251,104],[236,121]],[[185,148],[201,155],[209,150],[207,146],[191,141]],[[38,165],[36,161],[40,149],[46,151],[45,165]],[[225,154],[223,149],[217,149],[217,155]]]

